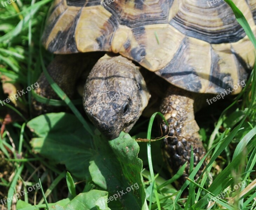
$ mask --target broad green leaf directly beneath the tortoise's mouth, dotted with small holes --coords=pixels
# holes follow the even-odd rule
[[[124,209],[141,209],[145,202],[145,191],[141,175],[142,160],[137,158],[137,142],[122,132],[111,141],[96,135],[94,144],[97,152],[90,161],[89,170],[92,181],[109,191],[110,197],[116,197],[110,202],[110,208],[112,205],[116,209],[121,208],[118,201]]]

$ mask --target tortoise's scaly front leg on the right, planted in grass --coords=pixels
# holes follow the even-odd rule
[[[199,137],[199,127],[194,116],[194,100],[197,93],[182,90],[170,86],[166,97],[160,107],[169,127],[162,125],[164,135],[163,155],[171,174],[177,173],[178,169],[188,161],[180,184],[185,182],[185,176],[189,176],[191,146],[193,147],[194,167],[205,155],[205,149]],[[204,165],[199,169],[196,178],[202,173]]]

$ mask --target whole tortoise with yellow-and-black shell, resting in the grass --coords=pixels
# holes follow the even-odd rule
[[[234,3],[256,31],[256,0]],[[84,110],[110,140],[130,131],[150,90],[168,84],[159,110],[169,123],[162,124],[163,154],[172,173],[190,162],[191,146],[195,166],[205,155],[194,116],[208,105],[205,96],[239,93],[242,86],[233,86],[248,78],[255,62],[249,38],[224,1],[55,0],[42,42],[59,54],[48,72],[69,97],[81,72],[90,71]],[[156,77],[146,83],[141,69]],[[58,98],[44,75],[39,84],[38,94]],[[188,173],[189,164],[183,176]]]

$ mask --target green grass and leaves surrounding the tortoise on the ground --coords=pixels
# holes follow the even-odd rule
[[[243,14],[230,0],[227,2],[256,48],[255,37]],[[35,83],[42,71],[47,73],[45,66],[53,55],[41,47],[40,36],[50,3],[49,0],[26,0],[0,7],[0,73],[10,79],[13,89],[24,89]],[[67,205],[77,209],[113,210],[123,207],[255,209],[254,72],[255,69],[238,96],[218,102],[227,107],[221,110],[222,113],[209,113],[209,107],[198,113],[208,165],[201,181],[195,182],[193,177],[203,163],[200,161],[180,189],[173,187],[172,183],[184,168],[170,177],[162,160],[160,140],[137,143],[122,133],[119,138],[108,142],[78,111],[81,105],[75,106],[77,101],[67,98],[47,76],[60,97],[60,100],[50,100],[50,103],[67,104],[73,114],[47,114],[32,119],[32,91],[19,97],[19,108],[11,103],[0,106],[0,117],[5,124],[0,137],[0,173],[5,172],[0,176],[0,200],[25,190],[18,202],[13,202],[17,209],[68,209]],[[0,99],[5,98],[7,95],[1,89]],[[45,98],[40,100],[48,101]],[[12,123],[8,124],[7,119],[4,121],[6,113],[11,115]],[[151,135],[157,136],[157,127],[152,123],[154,117],[149,126],[145,124],[148,120],[142,119],[132,131],[134,137],[151,139]],[[40,188],[29,191],[39,179]],[[135,183],[139,188],[127,193],[122,200],[101,202]],[[237,188],[241,183],[245,184]],[[182,192],[188,186],[189,195],[183,198]],[[225,190],[229,193],[209,203],[213,196],[223,195]],[[3,208],[11,209],[11,202]]]

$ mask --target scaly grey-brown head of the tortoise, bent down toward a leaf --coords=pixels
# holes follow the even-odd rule
[[[103,56],[85,84],[87,116],[107,138],[129,132],[147,106],[150,94],[139,67],[122,56]]]

